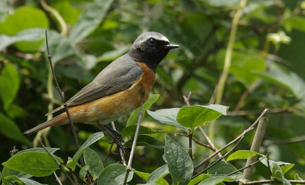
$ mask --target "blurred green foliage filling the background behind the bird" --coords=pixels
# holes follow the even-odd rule
[[[189,92],[192,105],[206,105],[223,70],[238,4],[238,0],[0,0],[0,162],[7,161],[13,146],[19,150],[33,147],[35,137],[61,148],[57,155],[65,161],[76,151],[69,125],[39,135],[22,134],[46,121],[48,109],[61,100],[49,73],[44,28],[48,28],[55,73],[67,99],[125,54],[139,34],[156,31],[181,48],[170,51],[157,68],[152,93],[160,94],[160,98],[151,110],[182,107],[183,95]],[[305,133],[304,15],[305,1],[247,2],[238,22],[221,102],[230,106],[229,113],[214,123],[210,133],[215,146],[221,147],[268,108],[261,152],[270,151],[270,159],[295,164],[286,174],[287,179],[293,179],[295,173],[305,178],[305,142],[272,143]],[[119,130],[127,119],[128,115],[116,121]],[[157,123],[149,115],[142,125],[165,130],[152,136],[164,141],[168,135],[188,148],[188,139],[175,136],[179,132],[175,127]],[[80,143],[99,131],[91,125],[75,127]],[[209,133],[210,125],[204,129]],[[253,134],[251,131],[237,149],[250,149]],[[205,142],[198,131],[194,137]],[[91,148],[104,159],[108,142],[111,139],[104,137]],[[150,173],[165,164],[161,160],[163,152],[137,147],[133,167]],[[195,146],[193,153],[196,164],[210,151]],[[107,163],[118,160],[118,155],[111,155]],[[242,167],[244,161],[233,164]],[[268,178],[267,168],[258,164],[253,179],[262,178]],[[38,181],[56,184],[53,176]],[[135,175],[130,184],[140,182]]]

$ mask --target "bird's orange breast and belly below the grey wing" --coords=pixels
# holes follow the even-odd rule
[[[142,68],[143,73],[130,88],[71,107],[69,112],[73,121],[91,123],[101,120],[106,124],[138,108],[141,105],[142,96],[144,96],[144,102],[147,101],[155,83],[155,73],[142,62],[138,62],[138,65]]]

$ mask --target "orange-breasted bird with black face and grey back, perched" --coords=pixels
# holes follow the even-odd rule
[[[144,32],[130,50],[115,59],[67,101],[73,123],[106,125],[147,101],[155,83],[156,68],[170,49],[179,48],[159,32]],[[64,109],[64,105],[46,115]],[[37,125],[24,134],[46,127],[69,124],[66,112]]]

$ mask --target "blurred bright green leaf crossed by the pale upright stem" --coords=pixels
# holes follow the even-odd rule
[[[226,50],[221,49],[216,57],[219,68],[224,66]],[[236,80],[250,88],[251,85],[258,79],[257,75],[252,74],[252,71],[265,71],[266,62],[259,54],[241,53],[233,51],[232,63],[229,68],[229,73],[233,74]]]

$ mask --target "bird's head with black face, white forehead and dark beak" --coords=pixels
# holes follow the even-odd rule
[[[128,53],[155,70],[170,49],[179,47],[179,45],[171,44],[161,33],[144,32],[134,41]]]

